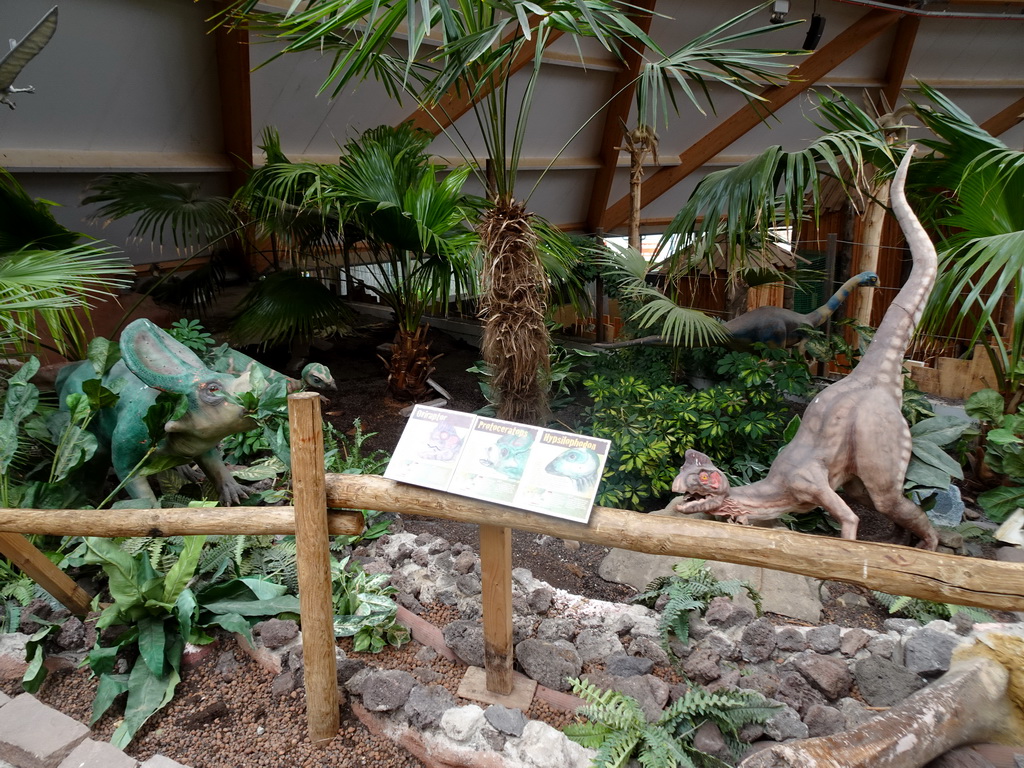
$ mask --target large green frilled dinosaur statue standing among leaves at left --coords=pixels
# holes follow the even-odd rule
[[[145,416],[163,391],[184,395],[187,404],[164,424],[156,456],[167,466],[198,462],[216,485],[220,501],[228,506],[248,496],[224,466],[217,444],[229,434],[256,427],[246,410],[228,398],[250,389],[249,373],[232,376],[211,371],[195,352],[147,319],[126,326],[120,347],[122,358],[102,377],[104,386],[118,391],[118,401],[100,410],[90,429],[110,456],[118,478],[128,478],[128,493],[160,506],[148,480],[133,471],[137,472],[151,447]],[[56,380],[60,402],[95,378],[89,360],[66,366]]]

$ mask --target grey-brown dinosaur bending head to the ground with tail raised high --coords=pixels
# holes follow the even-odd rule
[[[750,523],[822,507],[840,523],[844,539],[856,539],[859,519],[836,493],[842,487],[916,536],[922,549],[935,549],[938,538],[931,521],[903,496],[911,444],[900,410],[903,355],[938,268],[935,248],[903,194],[912,153],[911,147],[896,172],[892,204],[913,255],[913,269],[860,364],[811,401],[796,436],[763,480],[730,488],[711,459],[687,451],[672,489],[699,498],[677,504],[679,512],[707,512]]]

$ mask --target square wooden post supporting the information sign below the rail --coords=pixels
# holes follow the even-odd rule
[[[512,529],[480,525],[480,599],[487,690],[512,692]]]

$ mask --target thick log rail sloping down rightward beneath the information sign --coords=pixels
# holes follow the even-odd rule
[[[926,600],[1024,610],[1024,564],[910,547],[594,507],[586,524],[414,487],[376,475],[327,476],[332,507],[377,509],[674,557],[756,565]]]

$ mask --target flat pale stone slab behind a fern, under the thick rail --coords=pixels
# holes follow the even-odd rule
[[[598,575],[606,582],[626,584],[642,592],[654,579],[673,575],[672,566],[680,559],[668,555],[648,555],[613,549],[601,561]],[[816,579],[752,565],[715,561],[709,561],[708,567],[722,581],[738,579],[749,582],[761,595],[764,610],[767,612],[812,624],[816,624],[821,617],[821,599],[818,597],[818,586],[821,583]],[[754,603],[745,592],[741,591],[734,599],[737,604],[754,611]]]

